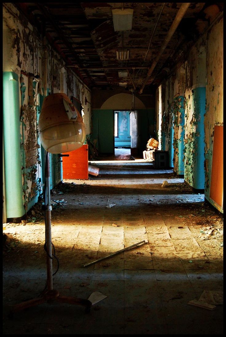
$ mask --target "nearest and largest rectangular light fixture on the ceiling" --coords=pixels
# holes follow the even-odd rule
[[[132,29],[133,9],[130,8],[116,8],[112,9],[112,18],[114,30],[120,32],[123,30]]]

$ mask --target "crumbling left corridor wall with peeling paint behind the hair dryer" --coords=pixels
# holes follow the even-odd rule
[[[65,67],[60,55],[47,44],[47,92],[64,92],[69,98],[79,99],[84,107],[86,132],[90,133],[90,90]],[[21,179],[25,213],[37,202],[42,193],[42,167],[38,117],[43,101],[43,41],[36,28],[22,16],[12,3],[3,4],[3,71],[19,76],[20,129],[21,129]],[[13,97],[9,98],[13,99]],[[13,130],[12,130],[13,132]],[[55,158],[55,157],[56,158]],[[62,180],[62,162],[58,155],[51,155],[52,181]],[[7,172],[5,173],[7,174]],[[56,178],[57,177],[57,178]],[[55,181],[54,181],[55,179]],[[52,185],[53,187],[53,185]],[[6,186],[7,188],[7,186]],[[12,196],[13,197],[13,196]]]

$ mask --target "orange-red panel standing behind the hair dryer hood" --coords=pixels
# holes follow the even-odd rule
[[[63,154],[63,179],[88,179],[88,145]]]

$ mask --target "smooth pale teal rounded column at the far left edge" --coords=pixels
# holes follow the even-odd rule
[[[19,93],[18,75],[14,72],[3,72],[3,141],[7,218],[19,218],[25,214]]]

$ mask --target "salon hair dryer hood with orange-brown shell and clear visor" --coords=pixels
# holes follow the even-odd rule
[[[86,129],[82,116],[62,93],[46,96],[38,121],[43,148],[50,153],[64,153],[84,144]]]

